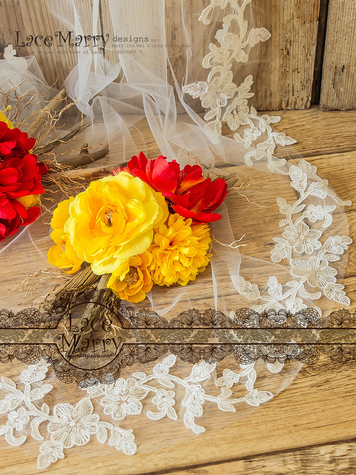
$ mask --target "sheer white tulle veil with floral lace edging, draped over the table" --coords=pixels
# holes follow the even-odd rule
[[[238,244],[246,246],[214,242],[211,266],[194,282],[154,286],[145,301],[131,307],[171,319],[192,309],[229,315],[242,308],[293,314],[315,308],[328,315],[335,305],[347,306],[342,278],[352,241],[343,206],[351,203],[337,196],[316,167],[283,148],[295,141],[272,128],[279,117],[258,115],[251,105],[253,47],[268,40],[269,32],[254,27],[251,0],[210,0],[204,11],[197,10],[198,2],[178,4],[172,19],[164,0],[105,2],[114,36],[137,32],[150,41],[134,54],[116,53],[120,48],[107,43],[105,57],[99,46],[85,54],[85,46],[78,46],[77,65],[64,84],[77,101],[78,114],[69,120],[89,121],[80,141],[93,147],[107,142],[116,167],[146,152],[141,131],[146,119],[157,155],[184,165],[188,152],[215,174],[237,172],[249,185],[240,190],[245,196],[226,198],[218,210],[223,218],[213,228],[216,241],[230,245],[244,235]],[[48,0],[47,9],[75,36],[105,33],[100,0]],[[180,67],[172,62],[173,39],[166,35],[172,21],[187,46],[181,48]],[[18,86],[19,95],[48,88],[35,57],[0,60],[0,82],[5,79],[6,87]],[[221,135],[222,127],[234,131],[234,138]],[[1,243],[1,308],[28,308],[62,278],[51,274],[47,261],[49,220],[44,214]],[[13,289],[30,275],[37,285],[26,299]],[[168,354],[126,367],[110,384],[80,389],[58,380],[45,361],[28,368],[12,364],[19,377],[1,379],[0,434],[13,446],[37,440],[42,469],[94,437],[133,455],[225,427],[288,386],[301,365],[238,364],[229,357],[193,365]]]

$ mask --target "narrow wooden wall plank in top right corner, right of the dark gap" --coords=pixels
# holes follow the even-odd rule
[[[321,110],[356,109],[356,2],[330,0]]]

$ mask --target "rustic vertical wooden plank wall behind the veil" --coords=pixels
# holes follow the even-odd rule
[[[209,43],[206,27],[197,25],[199,12],[208,4],[209,0],[192,2],[191,23],[188,19],[187,28],[194,32],[193,44]],[[322,110],[356,108],[354,0],[253,0],[252,6],[256,26],[264,26],[272,33],[272,38],[255,47],[260,58],[253,98],[257,109],[307,109],[319,100]],[[15,45],[16,30],[38,34],[61,29],[60,22],[41,0],[2,0],[1,9],[2,48],[9,42]],[[179,43],[182,41],[181,28],[174,22],[179,15],[177,0],[166,0],[166,11],[167,41]],[[31,18],[31,25],[28,18]],[[107,0],[101,0],[101,23],[103,31],[112,31]],[[89,19],[87,27],[87,31],[91,31]],[[66,30],[66,27],[62,29]],[[58,80],[61,84],[75,66],[76,55],[71,49],[63,48],[60,56],[37,55],[48,83]],[[23,47],[19,55],[27,56],[31,50],[40,51],[41,48]],[[173,69],[181,76],[179,72],[185,71],[182,50],[172,49],[169,55]],[[114,56],[113,52],[106,52],[107,58]],[[197,65],[199,73],[200,69],[203,68]]]

